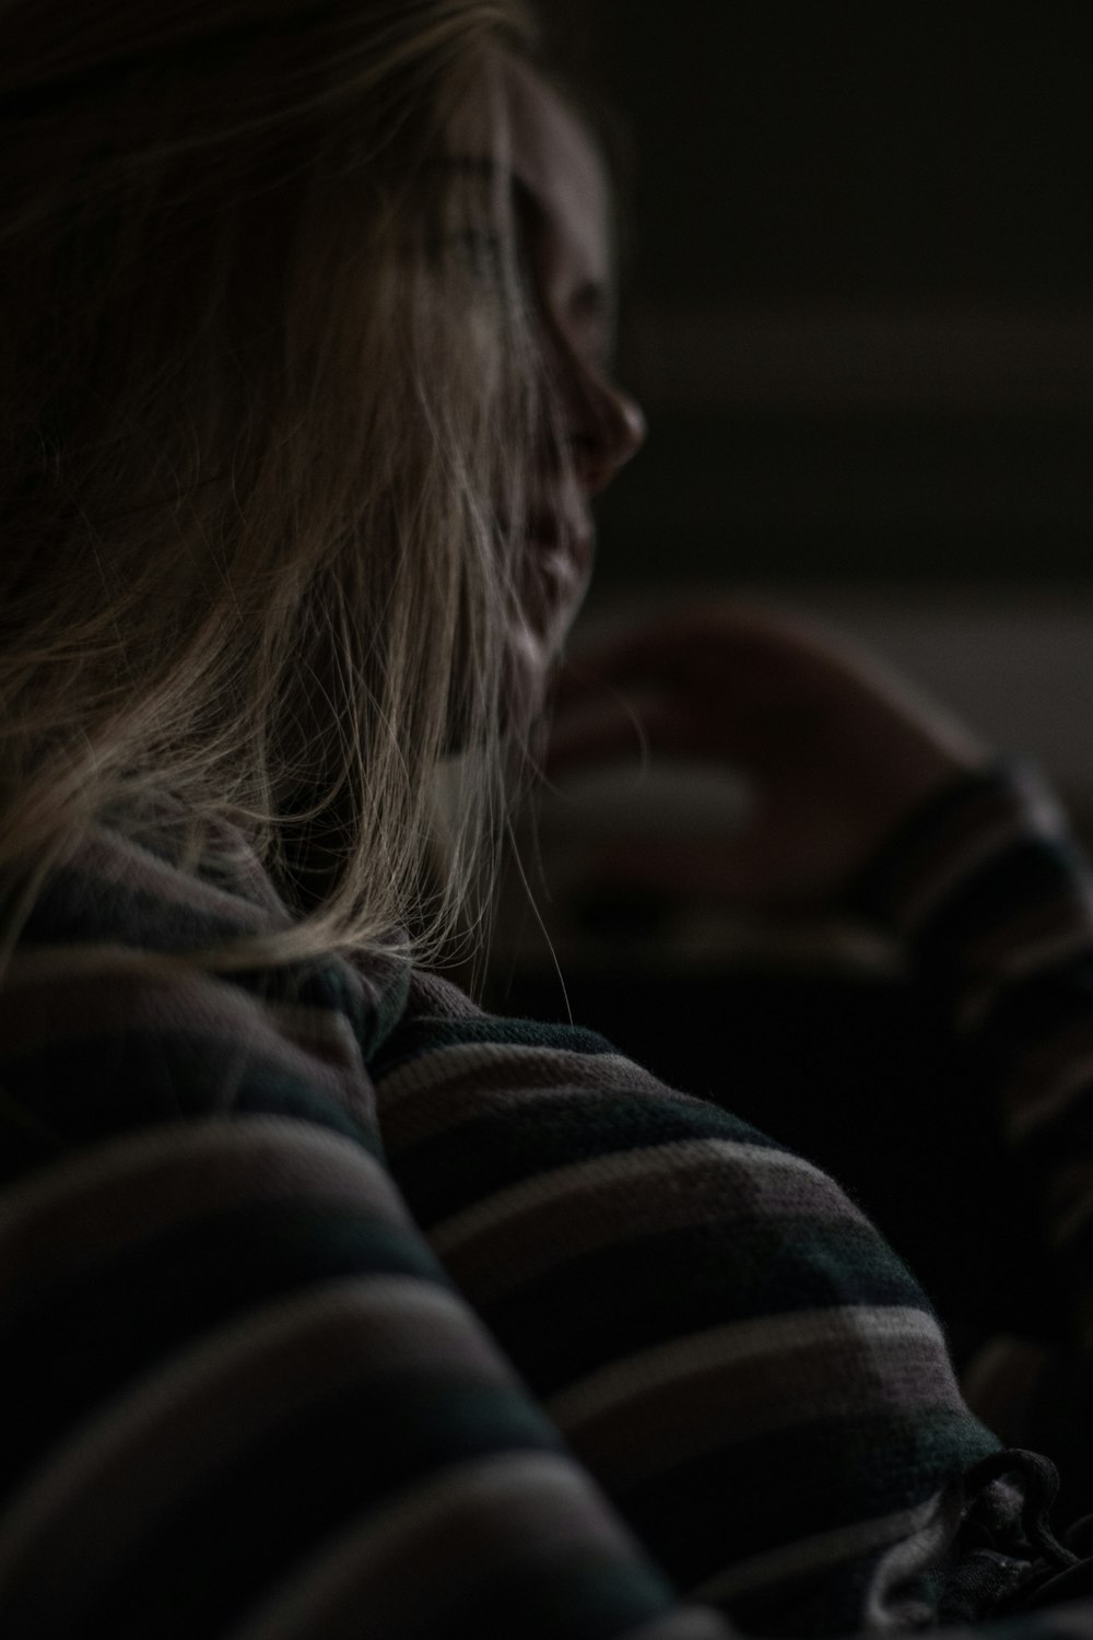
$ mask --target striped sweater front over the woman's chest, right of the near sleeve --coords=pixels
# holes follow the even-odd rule
[[[688,1597],[747,1633],[942,1610],[998,1442],[837,1184],[593,1033],[438,982],[374,1076],[431,1246]]]

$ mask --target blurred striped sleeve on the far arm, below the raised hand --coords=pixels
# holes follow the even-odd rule
[[[1036,772],[1001,766],[913,817],[857,900],[906,941],[1042,1230],[1057,1327],[988,1342],[965,1387],[1057,1460],[1073,1517],[1093,1509],[1093,874]]]

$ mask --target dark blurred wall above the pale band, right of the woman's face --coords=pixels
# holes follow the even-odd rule
[[[600,594],[1091,582],[1088,8],[544,10],[629,172]]]

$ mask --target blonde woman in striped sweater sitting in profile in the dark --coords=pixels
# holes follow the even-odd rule
[[[837,1186],[421,966],[642,436],[600,162],[523,13],[10,0],[0,44],[5,1633],[1027,1604],[1075,1560],[1050,1465],[968,1412]],[[705,751],[747,754],[765,690],[755,758],[795,720],[793,779],[857,781],[816,854],[772,776],[785,874],[872,854],[862,900],[929,932],[970,848],[1005,920],[1018,838],[1088,943],[967,736],[770,622],[698,631],[641,664]],[[973,1023],[1013,950],[978,936],[934,958],[975,959]]]

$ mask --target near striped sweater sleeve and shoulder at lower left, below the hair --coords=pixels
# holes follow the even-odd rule
[[[110,859],[128,899],[62,886],[0,992],[0,1632],[728,1640],[408,1214],[375,997],[154,969],[134,895],[175,948],[233,907]]]

